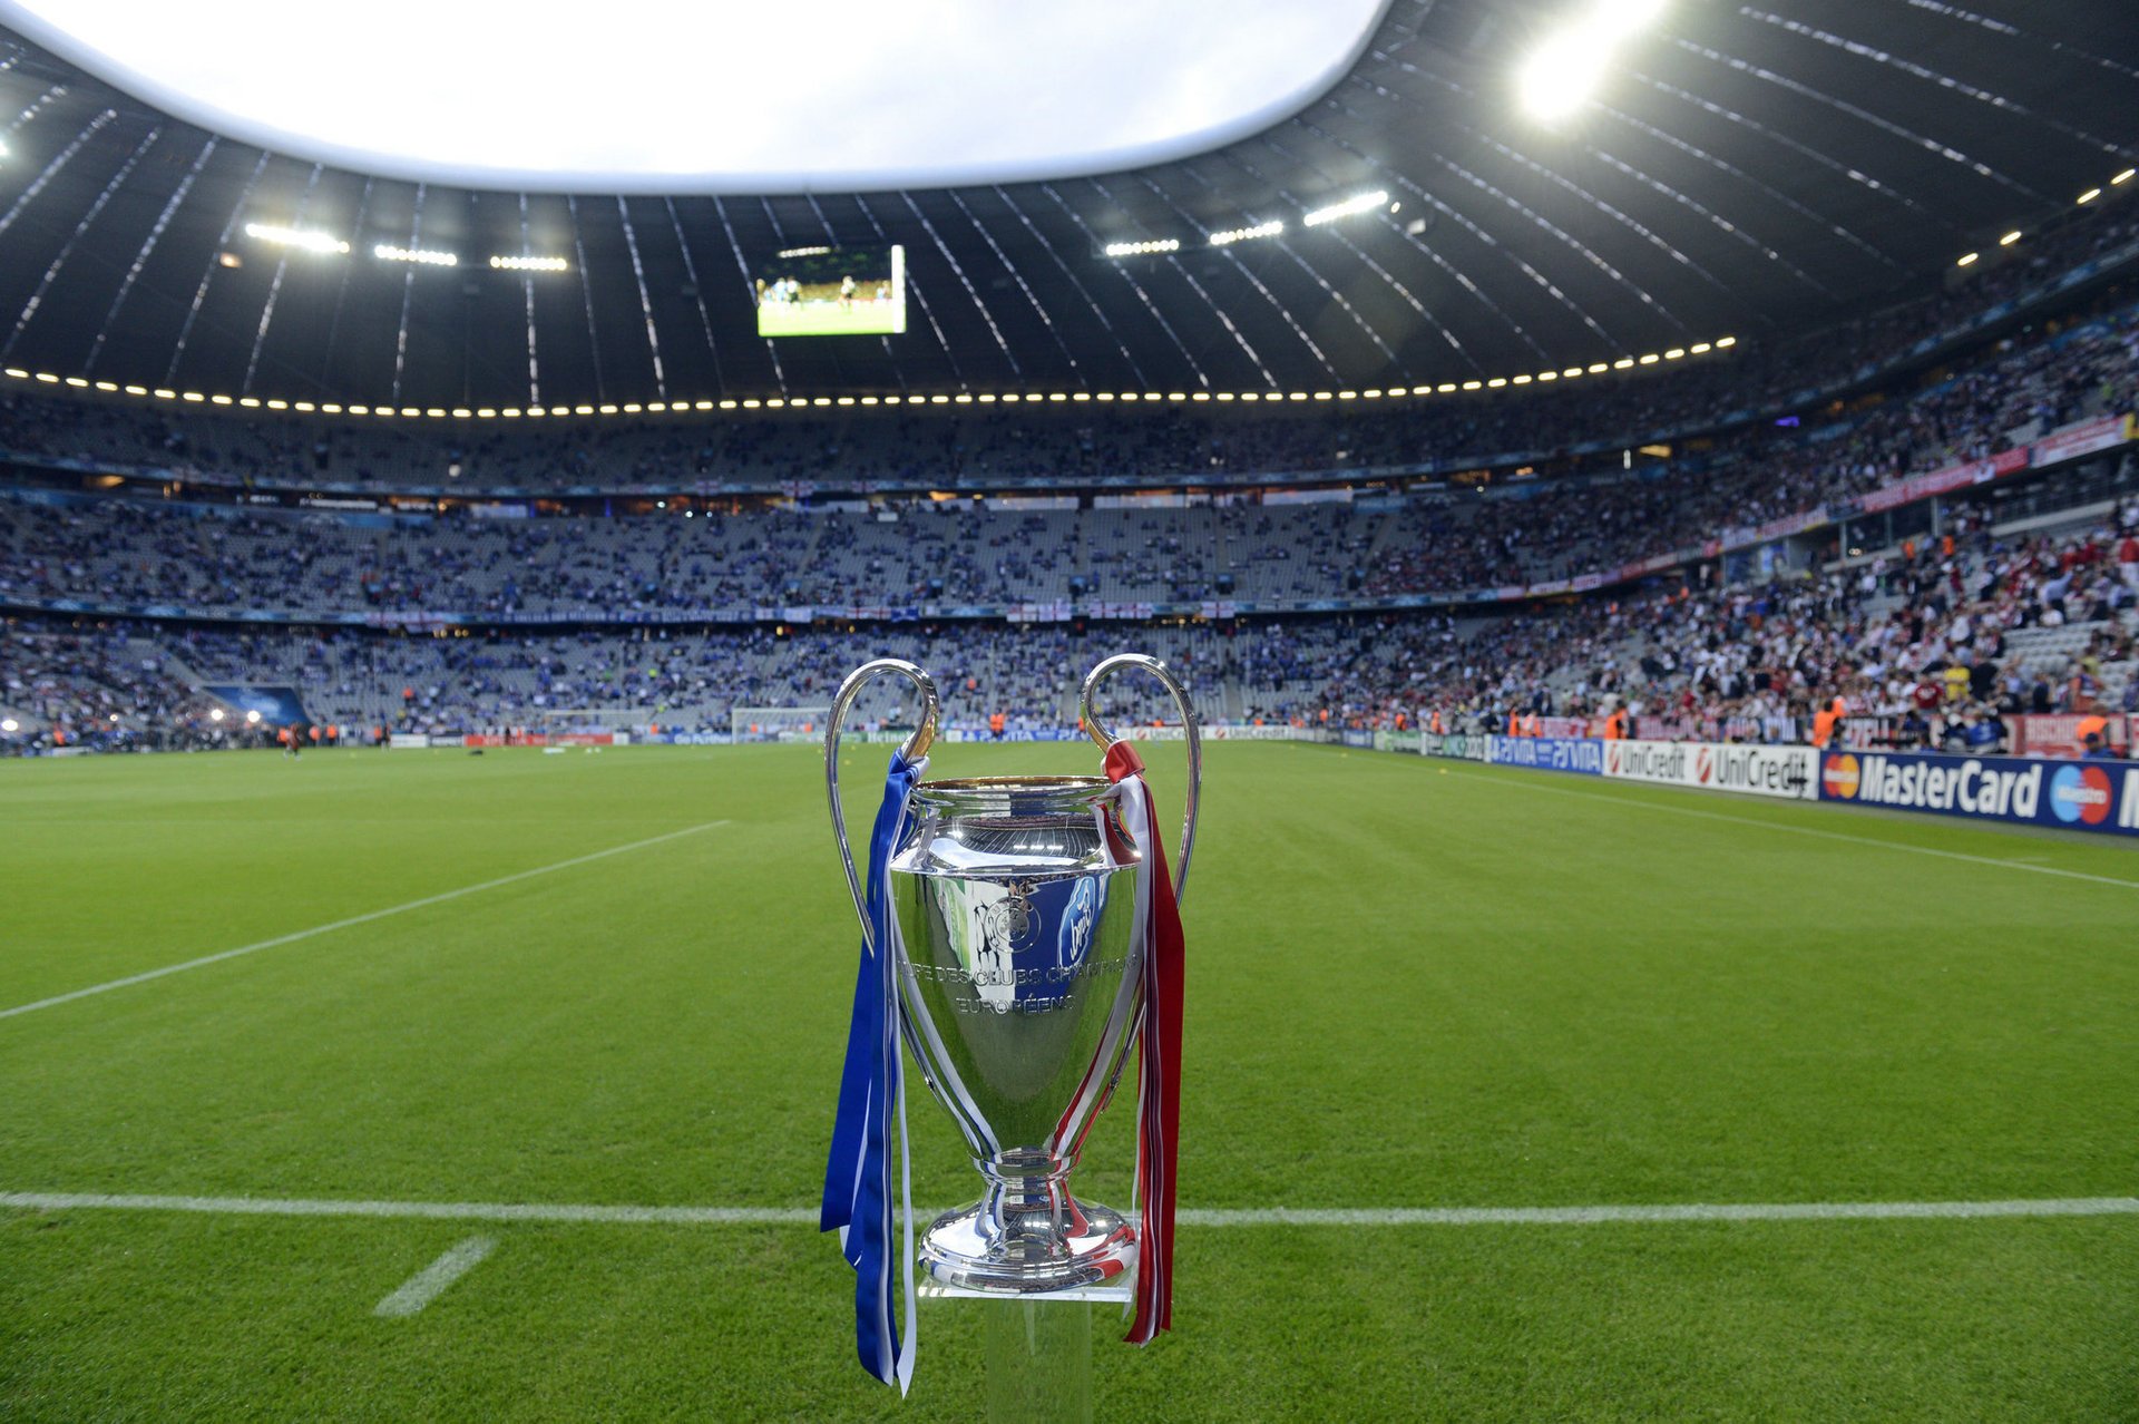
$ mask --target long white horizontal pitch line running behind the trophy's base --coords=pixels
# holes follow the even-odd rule
[[[139,1210],[235,1217],[370,1217],[419,1221],[537,1221],[567,1225],[802,1225],[806,1206],[575,1206],[541,1202],[342,1202],[321,1197],[156,1197],[98,1191],[0,1191],[0,1208]],[[1668,1221],[1917,1221],[1972,1217],[2139,1217],[2139,1197],[2011,1202],[1688,1202],[1632,1206],[1384,1206],[1183,1208],[1181,1225],[1606,1225]]]

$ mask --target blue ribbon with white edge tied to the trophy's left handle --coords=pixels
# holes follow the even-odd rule
[[[841,1255],[853,1266],[853,1345],[862,1368],[905,1390],[913,1375],[913,1193],[903,1180],[907,1249],[892,1251],[892,1114],[898,1112],[901,1165],[905,1167],[905,1084],[898,1052],[898,986],[890,904],[892,851],[907,825],[913,783],[926,757],[907,761],[892,753],[883,804],[868,836],[868,881],[862,892],[868,937],[853,975],[853,1020],[847,1026],[847,1067],[838,1082],[838,1118],[824,1170],[824,1208],[817,1229],[838,1229]],[[871,945],[875,945],[871,949]],[[901,1172],[907,1178],[907,1172]],[[907,1296],[907,1338],[901,1341],[892,1264],[901,1259]]]

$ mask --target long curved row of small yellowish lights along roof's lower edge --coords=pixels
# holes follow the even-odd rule
[[[1576,381],[1579,376],[1602,376],[1613,370],[1632,370],[1636,366],[1658,366],[1662,361],[1681,361],[1686,357],[1709,355],[1711,351],[1728,351],[1737,346],[1735,336],[1720,336],[1713,342],[1694,342],[1692,346],[1673,346],[1671,351],[1653,351],[1638,357],[1619,357],[1617,361],[1591,361],[1589,366],[1568,366],[1564,370],[1540,370],[1534,376],[1493,376],[1489,381],[1442,381],[1440,385],[1392,385],[1373,387],[1367,391],[1003,391],[1003,393],[958,393],[958,396],[768,396],[753,400],[655,400],[655,402],[627,402],[627,404],[601,404],[601,406],[364,406],[364,404],[340,404],[340,402],[314,402],[314,400],[263,400],[259,396],[203,396],[201,391],[173,391],[167,387],[145,387],[145,385],[120,385],[116,381],[88,381],[83,376],[53,376],[43,370],[24,370],[19,366],[9,366],[0,374],[11,381],[41,381],[45,385],[68,385],[75,389],[96,389],[107,396],[135,396],[150,400],[182,400],[193,404],[210,406],[244,406],[246,411],[304,411],[323,415],[383,415],[383,417],[428,417],[428,419],[518,419],[518,417],[545,417],[545,415],[687,415],[691,411],[800,411],[804,406],[992,406],[992,404],[1061,404],[1061,402],[1138,402],[1138,400],[1164,400],[1164,402],[1290,402],[1290,400],[1401,400],[1405,396],[1452,396],[1457,391],[1497,391],[1510,385],[1546,385],[1553,381]]]

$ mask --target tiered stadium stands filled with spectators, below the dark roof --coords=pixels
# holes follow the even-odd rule
[[[1651,729],[1782,740],[1837,693],[1899,725],[1914,674],[1961,659],[1991,669],[1972,688],[2006,710],[2128,708],[2139,479],[2120,451],[1996,511],[1961,492],[1938,539],[1927,505],[1899,502],[1842,524],[1848,547],[1778,550],[1767,579],[1741,569],[1726,588],[1709,560],[1574,603],[1495,590],[1602,577],[2124,413],[2139,306],[2118,289],[2017,331],[1983,314],[2130,239],[2128,222],[2083,227],[2062,250],[1827,334],[1829,370],[1887,378],[1810,408],[1784,391],[1803,346],[1373,415],[759,415],[483,428],[466,443],[462,425],[9,396],[9,742],[244,742],[210,718],[207,682],[299,686],[312,718],[351,729],[464,733],[605,708],[719,733],[736,706],[821,703],[873,652],[937,667],[954,725],[1003,712],[1033,733],[1072,716],[1087,609],[1166,607],[1204,616],[1138,641],[1187,669],[1217,721],[1405,727],[1440,712],[1487,727],[1510,708],[1630,706]],[[1955,331],[1981,336],[1953,346]],[[1912,363],[1925,342],[1936,359]],[[1748,389],[1750,404],[1718,408]],[[1773,417],[1782,404],[1799,413]],[[1495,447],[1540,436],[1609,455],[1564,455],[1551,477],[1495,470]],[[1636,462],[1634,443],[1658,453]],[[1429,455],[1476,479],[1373,479]],[[83,468],[109,473],[86,490]],[[165,479],[113,481],[150,468]],[[678,498],[518,505],[535,517],[511,520],[466,502],[381,511],[441,468],[468,490]],[[1095,487],[1119,473],[1142,487]],[[1181,487],[1185,473],[1196,483]],[[332,477],[376,498],[233,498],[231,475],[291,492]],[[768,481],[787,494],[704,496]],[[1040,494],[866,494],[879,481]],[[890,716],[890,691],[877,699],[864,712]]]

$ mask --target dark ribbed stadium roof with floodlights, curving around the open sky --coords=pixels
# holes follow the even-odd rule
[[[1677,0],[1564,41],[1594,2],[1395,0],[1206,154],[755,197],[329,167],[0,30],[0,366],[402,406],[1512,378],[1861,312],[2130,190],[2128,0]],[[905,248],[903,336],[755,334],[766,259],[868,244]],[[492,263],[524,257],[560,269]]]

